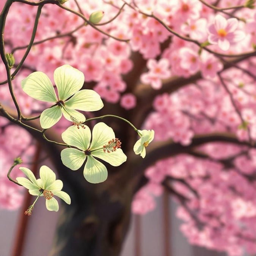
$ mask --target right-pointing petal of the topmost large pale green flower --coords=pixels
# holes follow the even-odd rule
[[[93,90],[81,90],[74,94],[65,105],[72,109],[96,111],[103,107],[101,96]]]

